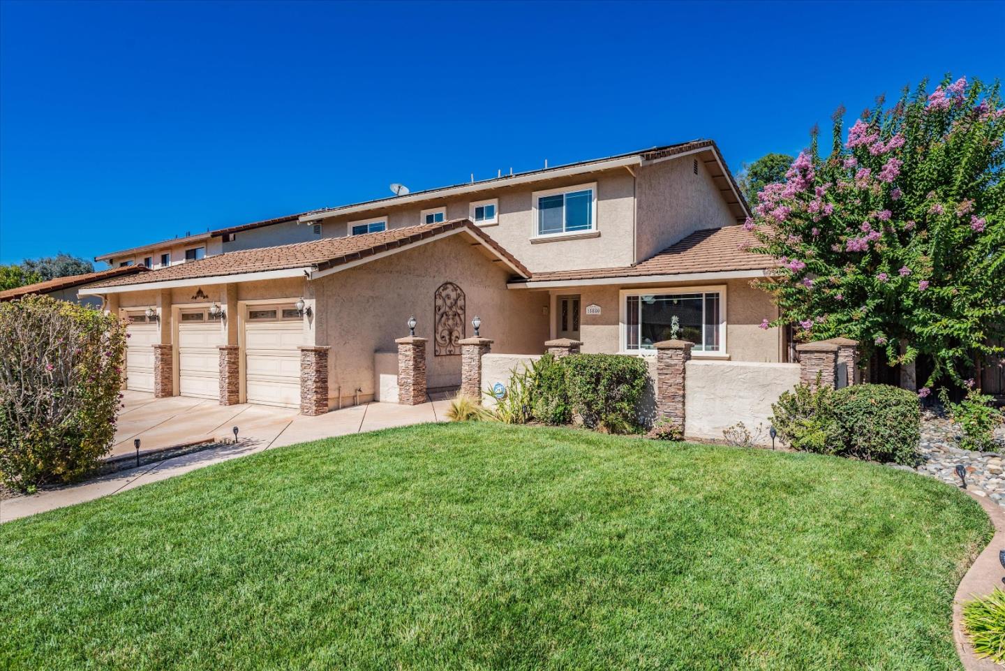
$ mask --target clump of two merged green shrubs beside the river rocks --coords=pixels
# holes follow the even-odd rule
[[[800,385],[772,405],[779,437],[796,450],[914,465],[921,406],[911,391],[855,384],[836,391]]]

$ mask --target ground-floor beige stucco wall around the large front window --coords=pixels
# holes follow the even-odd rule
[[[777,308],[771,296],[751,287],[747,279],[702,284],[702,287],[726,287],[726,348],[734,361],[779,361],[781,332],[777,328],[762,329],[761,321],[776,317]],[[687,283],[661,284],[659,287],[686,291]],[[644,287],[644,285],[642,286]],[[590,285],[571,289],[555,289],[551,294],[580,297],[580,340],[583,351],[614,354],[620,344],[620,290],[636,290],[636,286]],[[655,288],[655,286],[653,286]],[[522,291],[522,290],[514,290]],[[601,314],[586,314],[586,306],[599,305]]]

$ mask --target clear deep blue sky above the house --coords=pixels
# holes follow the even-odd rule
[[[1005,74],[1005,3],[0,2],[0,263],[713,138]]]

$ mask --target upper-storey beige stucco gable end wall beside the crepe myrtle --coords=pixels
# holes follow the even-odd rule
[[[652,257],[692,231],[737,222],[702,162],[711,156],[711,152],[706,152],[638,168],[636,262]]]

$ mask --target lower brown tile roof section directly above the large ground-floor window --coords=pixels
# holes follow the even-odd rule
[[[535,273],[528,284],[567,280],[633,278],[648,275],[683,275],[687,273],[725,273],[759,271],[773,268],[775,262],[764,255],[747,251],[757,244],[754,233],[743,226],[723,226],[695,230],[659,254],[627,268],[602,268],[591,271]]]

